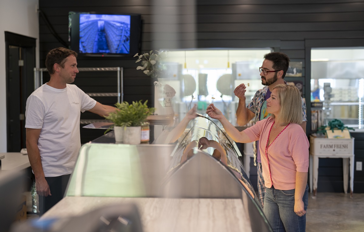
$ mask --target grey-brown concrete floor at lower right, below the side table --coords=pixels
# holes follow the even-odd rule
[[[306,232],[363,232],[364,194],[318,192],[309,194]]]

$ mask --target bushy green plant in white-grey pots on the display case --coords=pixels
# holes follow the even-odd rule
[[[142,101],[116,103],[118,111],[110,113],[106,119],[114,122],[115,141],[127,144],[139,144],[141,140],[141,125],[146,118],[154,113],[154,108],[148,108]],[[120,128],[118,128],[120,127]],[[118,132],[116,131],[118,130]],[[118,134],[118,138],[116,138]],[[122,136],[122,139],[119,136]],[[120,141],[121,140],[121,141]]]

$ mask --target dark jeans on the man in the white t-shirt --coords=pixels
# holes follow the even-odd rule
[[[71,174],[55,177],[46,177],[48,186],[51,190],[51,196],[39,196],[39,215],[43,215],[48,209],[52,208],[64,196],[66,192],[68,180]]]

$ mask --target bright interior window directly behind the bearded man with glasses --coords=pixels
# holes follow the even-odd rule
[[[233,112],[238,102],[233,93],[237,86],[235,81],[257,80],[259,85],[249,88],[254,95],[262,87],[258,69],[264,54],[269,52],[270,49],[170,50],[166,58],[168,74],[159,81],[176,90],[173,109],[179,117],[190,110],[191,103],[197,104],[197,113],[204,114],[214,101],[234,124]],[[186,84],[185,78],[193,85]]]

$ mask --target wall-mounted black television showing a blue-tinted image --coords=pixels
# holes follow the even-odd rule
[[[69,12],[70,48],[79,56],[128,57],[141,50],[141,16]]]

